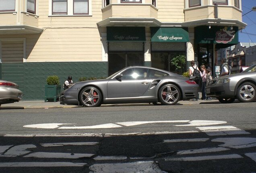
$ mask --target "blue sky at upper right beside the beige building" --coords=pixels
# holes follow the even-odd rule
[[[256,45],[256,11],[251,11],[253,6],[256,6],[256,0],[242,0],[242,21],[247,26],[239,31],[239,42],[251,42],[251,46]]]

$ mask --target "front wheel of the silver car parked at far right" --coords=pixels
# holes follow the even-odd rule
[[[240,102],[253,102],[256,100],[256,86],[251,82],[244,82],[237,88],[236,97]]]

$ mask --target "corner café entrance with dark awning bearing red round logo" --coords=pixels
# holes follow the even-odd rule
[[[237,26],[198,26],[195,27],[195,61],[211,67],[213,76],[219,74],[216,51],[238,44]]]

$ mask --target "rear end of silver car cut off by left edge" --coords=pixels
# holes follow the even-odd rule
[[[20,101],[23,96],[19,85],[6,80],[0,80],[0,106],[1,104]]]

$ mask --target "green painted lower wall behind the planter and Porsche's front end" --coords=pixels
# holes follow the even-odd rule
[[[23,100],[44,100],[46,78],[58,75],[63,85],[68,76],[107,77],[108,62],[24,62]],[[62,87],[63,90],[63,87]]]

